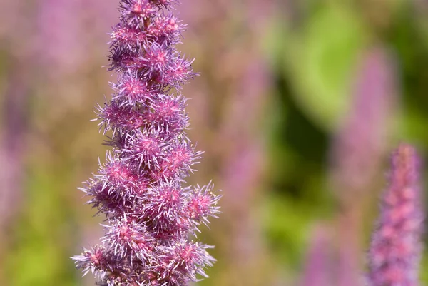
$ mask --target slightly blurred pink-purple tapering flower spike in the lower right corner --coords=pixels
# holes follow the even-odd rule
[[[419,285],[417,270],[422,243],[423,213],[419,185],[419,160],[410,145],[392,154],[389,186],[369,250],[372,286]]]

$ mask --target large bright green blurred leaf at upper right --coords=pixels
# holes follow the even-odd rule
[[[350,7],[325,5],[284,39],[283,67],[293,99],[315,124],[332,128],[347,111],[350,75],[366,38]]]

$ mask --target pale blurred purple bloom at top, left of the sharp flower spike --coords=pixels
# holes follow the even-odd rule
[[[93,64],[99,66],[108,40],[106,29],[117,19],[113,3],[116,0],[38,1],[34,46],[48,80],[58,85],[66,78],[69,83]]]

